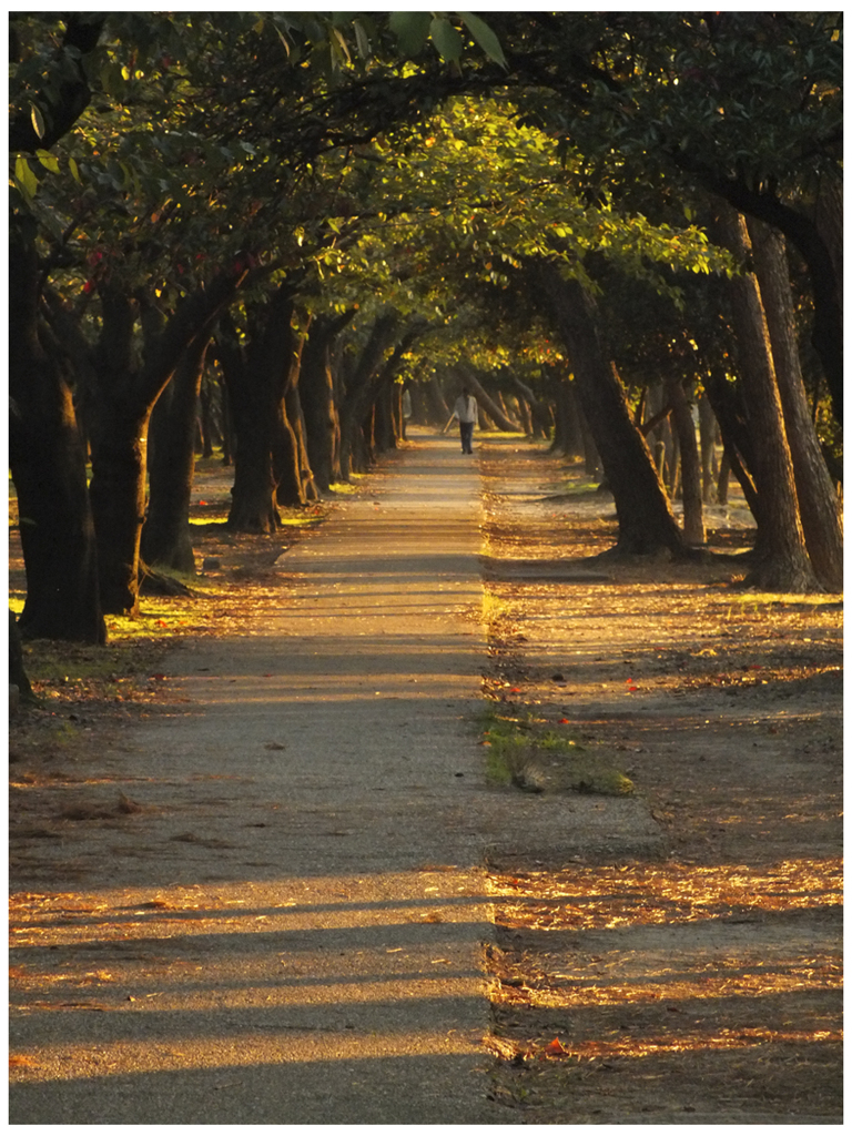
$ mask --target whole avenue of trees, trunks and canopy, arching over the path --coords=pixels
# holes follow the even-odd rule
[[[462,381],[615,554],[695,556],[733,476],[747,583],[842,588],[841,14],[10,22],[22,632],[194,571],[199,426],[273,532]]]

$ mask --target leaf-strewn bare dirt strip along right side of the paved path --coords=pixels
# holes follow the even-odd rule
[[[838,1124],[842,604],[718,562],[566,583],[610,499],[490,450],[492,696],[620,759],[669,849],[495,863],[496,1097],[526,1124]]]

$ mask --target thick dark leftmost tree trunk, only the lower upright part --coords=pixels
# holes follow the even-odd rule
[[[9,227],[9,465],[27,593],[24,634],[103,643],[85,450],[58,360],[39,335],[34,227]]]

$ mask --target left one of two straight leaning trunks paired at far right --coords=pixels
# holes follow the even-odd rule
[[[720,206],[715,227],[719,243],[745,264],[751,247],[744,218],[728,206]],[[753,475],[760,499],[757,518],[761,531],[760,559],[746,578],[746,585],[768,592],[819,591],[804,545],[793,462],[758,283],[753,274],[741,273],[732,277],[728,287],[749,429],[755,440]]]

